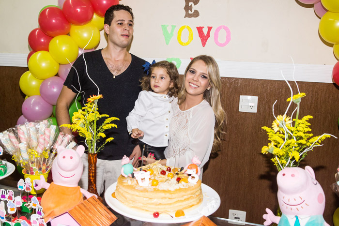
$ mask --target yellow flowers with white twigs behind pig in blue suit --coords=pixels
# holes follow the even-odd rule
[[[267,146],[262,147],[262,154],[270,153],[273,155],[271,161],[277,166],[278,171],[285,167],[299,166],[300,161],[307,156],[308,151],[312,151],[314,147],[321,146],[320,143],[325,138],[333,136],[330,134],[313,136],[310,133],[311,129],[309,128],[310,123],[308,120],[313,117],[307,115],[299,119],[301,98],[305,97],[306,94],[299,92],[293,95],[292,88],[290,85],[289,87],[291,89],[291,97],[287,99],[287,102],[290,102],[290,104],[285,114],[276,117],[273,111],[275,121],[273,121],[272,126],[262,127],[267,132],[268,140],[270,141]],[[292,102],[297,105],[293,111],[293,113],[296,111],[294,119],[293,113],[291,117],[286,115]]]

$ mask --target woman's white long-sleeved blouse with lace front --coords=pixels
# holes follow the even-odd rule
[[[199,105],[182,111],[178,99],[174,98],[171,112],[169,146],[164,152],[166,165],[185,167],[197,155],[202,175],[202,167],[210,157],[214,141],[216,118],[213,109],[203,100]]]

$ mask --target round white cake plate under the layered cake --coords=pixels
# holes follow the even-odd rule
[[[168,214],[160,214],[158,218],[154,218],[153,214],[148,214],[144,212],[139,212],[135,209],[125,206],[118,199],[112,197],[112,193],[115,191],[117,182],[113,183],[108,187],[105,192],[105,200],[110,208],[118,213],[143,222],[153,222],[161,224],[174,224],[174,223],[184,223],[198,220],[202,216],[209,216],[214,213],[220,206],[220,196],[213,190],[211,187],[206,184],[201,184],[203,200],[202,204],[189,212],[185,212],[183,217],[171,218]]]

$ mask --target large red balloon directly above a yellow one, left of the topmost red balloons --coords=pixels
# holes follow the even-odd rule
[[[38,17],[39,27],[48,36],[68,34],[71,24],[66,20],[59,7],[47,7]]]

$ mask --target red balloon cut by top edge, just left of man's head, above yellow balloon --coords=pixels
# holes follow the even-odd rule
[[[89,0],[65,0],[62,12],[71,24],[84,25],[92,20],[94,9]]]

